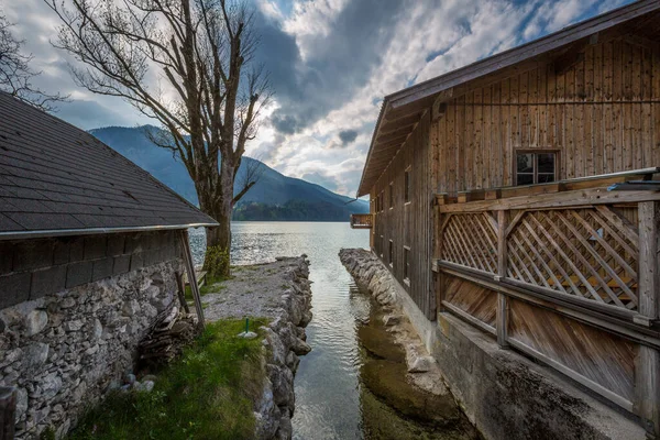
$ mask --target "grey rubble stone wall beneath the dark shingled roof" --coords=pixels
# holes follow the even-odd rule
[[[148,251],[144,267],[136,251],[136,270],[0,310],[0,384],[18,387],[18,439],[46,429],[61,438],[132,367],[138,342],[176,297],[174,273],[183,272],[178,258],[154,264],[174,249]],[[98,261],[117,261],[103,253]]]

